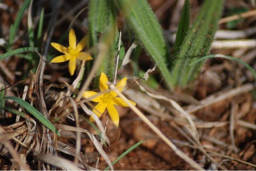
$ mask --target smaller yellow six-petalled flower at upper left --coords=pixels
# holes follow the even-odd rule
[[[76,59],[78,60],[92,60],[90,54],[86,52],[80,52],[87,43],[87,37],[82,38],[82,40],[76,45],[76,34],[73,28],[71,28],[69,33],[69,47],[62,46],[58,43],[51,43],[51,45],[63,53],[64,55],[60,55],[52,59],[51,63],[62,63],[67,60],[69,61],[68,70],[70,71],[70,75],[73,75],[76,70]]]

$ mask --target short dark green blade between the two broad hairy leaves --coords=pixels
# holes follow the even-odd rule
[[[175,39],[175,53],[180,51],[180,46],[186,37],[187,32],[189,31],[189,17],[190,17],[190,3],[189,0],[185,0],[183,10],[180,17],[180,23],[176,34]]]

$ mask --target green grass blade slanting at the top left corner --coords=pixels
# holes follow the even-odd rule
[[[17,14],[17,18],[15,19],[14,24],[10,27],[10,35],[9,35],[9,44],[10,45],[12,44],[12,42],[17,34],[17,30],[20,25],[20,21],[22,19],[22,16],[23,16],[25,10],[28,8],[30,1],[31,0],[25,0],[25,2],[23,3],[23,5],[20,8],[20,11]]]

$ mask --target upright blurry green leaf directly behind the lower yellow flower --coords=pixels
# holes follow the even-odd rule
[[[116,8],[114,2],[108,0],[90,1],[88,13],[88,33],[89,45],[91,48],[97,46],[99,38],[102,36],[107,26],[111,26],[113,28],[114,41],[112,41],[111,46],[108,49],[108,56],[105,57],[104,61],[102,61],[102,65],[96,73],[95,86],[98,86],[98,80],[101,72],[107,74],[110,81],[113,80],[116,66],[119,33],[116,28]],[[125,50],[121,44],[121,49],[119,52],[120,58],[124,56],[124,51]]]

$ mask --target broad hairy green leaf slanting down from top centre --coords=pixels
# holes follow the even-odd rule
[[[172,89],[172,77],[166,66],[168,55],[162,28],[148,2],[146,0],[116,0],[116,4],[136,37],[157,63],[166,85]]]

